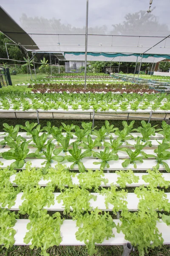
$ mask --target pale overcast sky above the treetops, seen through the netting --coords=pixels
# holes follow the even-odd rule
[[[147,11],[150,0],[89,0],[89,26],[122,23],[128,13]],[[0,0],[0,5],[20,24],[20,17],[45,17],[61,19],[61,23],[82,28],[85,26],[86,0]],[[170,28],[170,0],[153,0],[153,14],[159,23]]]

